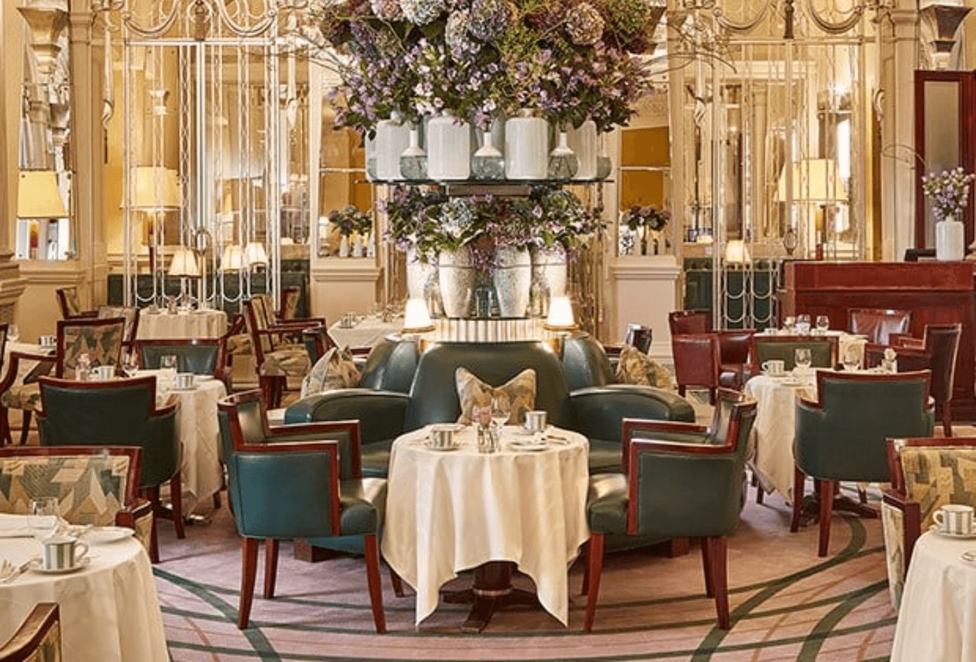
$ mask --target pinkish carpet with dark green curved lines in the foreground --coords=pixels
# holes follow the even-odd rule
[[[766,501],[747,506],[729,541],[729,632],[714,626],[694,544],[676,559],[649,551],[609,555],[591,635],[581,632],[579,567],[570,572],[569,629],[543,611],[511,610],[479,636],[458,631],[466,610],[453,605],[415,629],[412,599],[397,599],[385,576],[390,632],[381,637],[372,631],[362,560],[306,564],[292,558],[290,546],[282,547],[278,597],[256,598],[252,628],[240,632],[240,547],[225,508],[188,527],[183,541],[161,524],[157,585],[177,661],[886,659],[895,613],[879,521],[837,514],[831,556],[821,560],[816,526],[791,534],[782,498]],[[452,586],[468,583],[463,575]]]

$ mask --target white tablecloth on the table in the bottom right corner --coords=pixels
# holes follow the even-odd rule
[[[892,662],[976,660],[976,540],[925,533],[915,543],[898,612]]]

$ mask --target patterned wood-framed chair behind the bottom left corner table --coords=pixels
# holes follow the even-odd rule
[[[27,515],[53,496],[72,525],[128,526],[149,550],[152,506],[139,498],[142,448],[0,448],[0,513]]]

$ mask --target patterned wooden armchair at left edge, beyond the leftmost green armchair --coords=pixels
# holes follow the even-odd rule
[[[20,445],[26,443],[30,419],[40,407],[41,395],[38,377],[50,374],[74,377],[74,369],[82,354],[87,354],[92,366],[117,366],[122,360],[122,344],[125,340],[123,318],[85,319],[72,318],[58,322],[58,342],[55,355],[13,352],[10,366],[0,379],[0,417],[5,419],[5,430],[10,430],[10,409],[23,411],[20,427]],[[33,361],[36,366],[19,382],[20,363]]]

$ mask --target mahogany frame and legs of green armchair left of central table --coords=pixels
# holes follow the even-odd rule
[[[275,442],[273,444],[248,444],[244,441],[240,418],[237,415],[238,405],[260,402],[262,412],[262,426],[264,436],[273,435],[309,435],[318,432],[346,432],[349,435],[349,449],[351,454],[352,478],[362,478],[362,455],[360,449],[360,431],[358,420],[319,421],[315,423],[299,423],[295,425],[270,425],[267,421],[264,395],[261,390],[244,391],[228,396],[222,400],[218,408],[227,415],[230,428],[230,439],[233,448],[239,452],[250,453],[279,453],[279,452],[324,452],[329,455],[329,490],[332,522],[332,535],[340,535],[341,503],[339,494],[339,442]],[[241,538],[241,591],[237,608],[237,627],[241,630],[248,627],[251,616],[251,604],[254,600],[255,580],[258,572],[258,538]],[[383,608],[383,589],[380,582],[380,545],[377,534],[363,536],[366,551],[366,580],[369,588],[370,604],[373,611],[373,622],[379,634],[386,633],[386,615]],[[264,540],[264,599],[274,597],[274,587],[278,574],[277,539]],[[390,568],[393,588],[397,596],[403,595],[403,585],[400,578]]]

